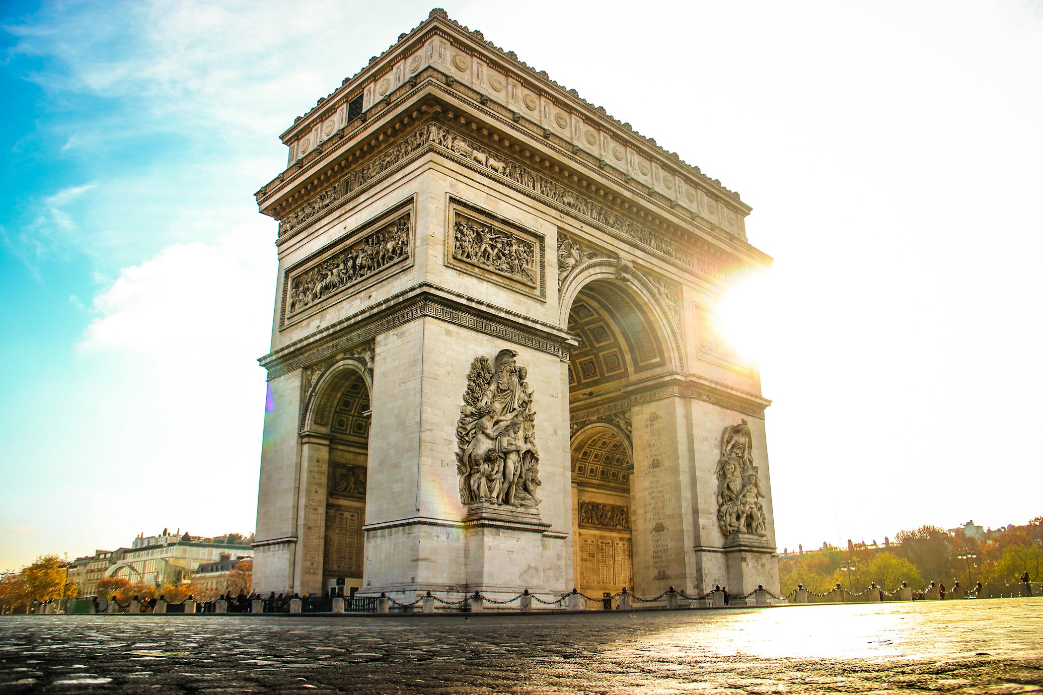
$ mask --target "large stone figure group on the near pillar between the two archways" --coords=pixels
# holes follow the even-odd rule
[[[539,451],[527,370],[513,350],[501,350],[492,364],[481,356],[467,375],[467,391],[457,423],[460,501],[536,506]]]

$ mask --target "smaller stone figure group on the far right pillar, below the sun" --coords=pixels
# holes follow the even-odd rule
[[[753,439],[745,419],[742,424],[725,427],[721,435],[717,478],[721,532],[766,536],[760,471],[753,465]]]

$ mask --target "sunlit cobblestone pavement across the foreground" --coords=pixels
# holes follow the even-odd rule
[[[1043,692],[1043,598],[554,616],[8,616],[0,694]]]

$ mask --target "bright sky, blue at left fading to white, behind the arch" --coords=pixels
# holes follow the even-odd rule
[[[0,569],[252,529],[252,193],[387,6],[0,4]],[[1043,514],[1039,3],[444,6],[753,205],[780,548]]]

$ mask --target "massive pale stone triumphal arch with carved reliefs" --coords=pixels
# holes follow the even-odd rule
[[[258,591],[778,590],[736,193],[440,9],[282,139]]]

